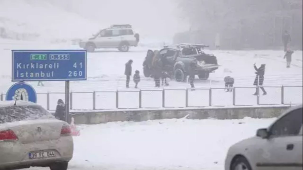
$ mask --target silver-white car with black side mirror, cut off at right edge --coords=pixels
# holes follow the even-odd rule
[[[255,137],[231,146],[225,170],[302,170],[302,105],[282,114]]]

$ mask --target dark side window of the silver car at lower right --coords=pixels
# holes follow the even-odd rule
[[[302,127],[302,108],[293,110],[271,126],[271,136],[298,135]]]

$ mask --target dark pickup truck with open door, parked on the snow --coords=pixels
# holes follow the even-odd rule
[[[208,47],[201,44],[178,44],[175,46],[165,46],[158,53],[158,57],[163,61],[162,71],[167,72],[171,78],[176,81],[186,80],[188,69],[191,62],[196,64],[196,75],[200,79],[208,79],[209,73],[218,69],[217,57],[212,54],[206,54],[202,50]],[[148,50],[143,62],[143,71],[145,77],[152,77],[152,60],[155,56],[154,51]],[[159,69],[158,67],[156,69]]]

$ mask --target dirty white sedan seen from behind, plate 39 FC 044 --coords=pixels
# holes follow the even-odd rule
[[[25,101],[0,102],[0,169],[66,170],[73,156],[68,123]]]

